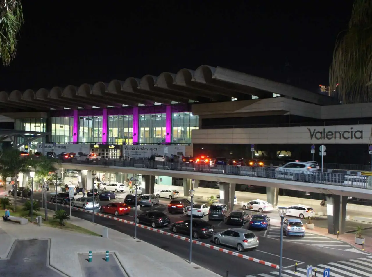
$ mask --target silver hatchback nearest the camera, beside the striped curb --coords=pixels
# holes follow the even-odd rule
[[[258,238],[253,232],[242,228],[234,228],[215,233],[213,235],[213,241],[217,245],[223,244],[234,247],[239,252],[257,248],[259,244]]]

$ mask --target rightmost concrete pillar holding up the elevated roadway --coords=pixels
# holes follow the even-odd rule
[[[346,217],[347,196],[327,196],[327,222],[328,233],[344,233]]]

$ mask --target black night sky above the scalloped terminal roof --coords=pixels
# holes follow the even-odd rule
[[[289,76],[316,91],[328,84],[334,42],[351,10],[352,0],[23,1],[17,57],[0,65],[0,90],[207,64],[279,81]]]

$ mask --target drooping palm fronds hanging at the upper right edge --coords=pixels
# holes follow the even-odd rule
[[[330,67],[330,87],[345,103],[372,101],[372,1],[355,0]]]

